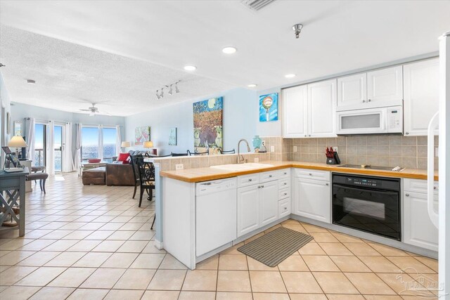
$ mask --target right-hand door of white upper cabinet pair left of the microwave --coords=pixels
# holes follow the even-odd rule
[[[336,79],[308,84],[308,136],[336,136],[335,112]]]

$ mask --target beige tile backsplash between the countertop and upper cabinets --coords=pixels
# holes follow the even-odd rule
[[[262,138],[271,160],[325,162],[325,149],[338,147],[341,164],[426,169],[427,137],[398,135],[339,136],[338,138]],[[437,146],[437,138],[435,138]],[[294,147],[297,151],[294,152]],[[435,169],[438,159],[435,157]]]

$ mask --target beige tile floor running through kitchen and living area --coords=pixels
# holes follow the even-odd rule
[[[278,226],[314,240],[275,268],[240,254],[241,243],[187,270],[153,246],[154,204],[139,208],[131,187],[83,186],[68,174],[50,178],[46,190],[27,194],[25,237],[0,236],[0,299],[434,296],[423,285],[437,280],[436,260],[294,220]],[[405,291],[408,282],[424,290]]]

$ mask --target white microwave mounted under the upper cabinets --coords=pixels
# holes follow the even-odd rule
[[[403,107],[336,112],[337,134],[403,133]]]

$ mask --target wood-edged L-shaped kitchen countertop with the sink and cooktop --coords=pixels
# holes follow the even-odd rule
[[[230,178],[240,175],[259,173],[263,171],[272,171],[285,168],[299,168],[299,169],[315,169],[332,172],[341,172],[349,174],[364,174],[373,176],[397,177],[397,178],[416,178],[427,179],[427,171],[424,169],[404,169],[401,172],[397,171],[383,171],[373,169],[353,169],[343,168],[339,165],[321,164],[315,162],[278,162],[278,161],[264,161],[260,164],[271,164],[272,166],[260,167],[257,169],[250,169],[245,171],[229,171],[224,169],[214,169],[211,167],[183,169],[177,171],[161,171],[160,176],[177,179],[179,181],[186,181],[190,183],[200,181],[210,181],[214,179]],[[438,180],[437,171],[435,171],[435,180]]]

